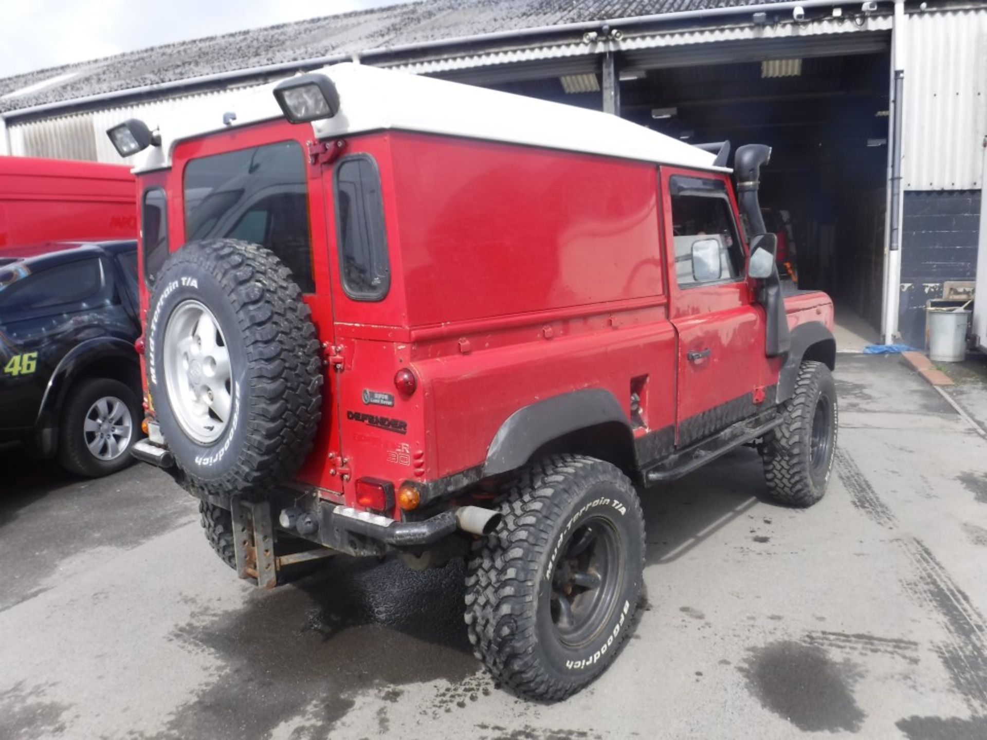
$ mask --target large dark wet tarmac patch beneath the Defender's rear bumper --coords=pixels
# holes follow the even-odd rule
[[[323,738],[374,688],[397,702],[401,685],[464,682],[481,670],[463,624],[464,577],[461,560],[417,572],[340,556],[296,584],[252,593],[240,610],[193,620],[176,637],[224,667],[159,737],[260,738],[300,721],[294,740]],[[384,731],[386,710],[377,720]]]

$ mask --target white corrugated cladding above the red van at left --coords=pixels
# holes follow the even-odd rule
[[[190,100],[221,100],[224,97],[232,99],[238,89],[242,88],[216,90],[57,118],[42,118],[25,123],[9,123],[7,132],[10,137],[10,153],[20,157],[95,160],[114,165],[133,164],[132,158],[120,159],[107,136],[108,128],[127,118],[154,120],[163,111],[181,110]]]

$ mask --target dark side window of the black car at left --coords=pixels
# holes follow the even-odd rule
[[[5,314],[84,311],[113,300],[103,260],[95,257],[48,267],[0,287],[0,309]]]

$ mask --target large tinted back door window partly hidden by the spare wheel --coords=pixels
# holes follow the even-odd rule
[[[305,156],[297,141],[193,159],[185,170],[186,239],[243,239],[277,255],[315,291]]]

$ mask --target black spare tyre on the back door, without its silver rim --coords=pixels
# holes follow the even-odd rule
[[[172,313],[195,301],[214,317],[230,362],[232,407],[208,443],[179,423],[166,383]],[[159,273],[147,313],[147,380],[161,431],[186,481],[217,495],[283,481],[312,446],[322,405],[322,363],[300,288],[267,250],[221,239],[193,242]]]

